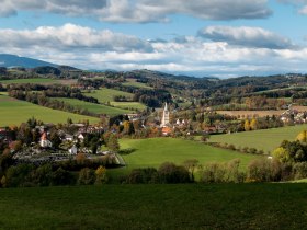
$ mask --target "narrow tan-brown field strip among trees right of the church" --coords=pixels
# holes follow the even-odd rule
[[[243,117],[264,117],[264,116],[280,116],[282,113],[284,113],[285,110],[283,111],[216,111],[218,114],[226,114],[229,116],[240,116],[241,118]]]

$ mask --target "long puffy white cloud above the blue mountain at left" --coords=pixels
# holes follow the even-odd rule
[[[41,26],[36,30],[0,30],[2,47],[46,47],[53,49],[102,49],[105,51],[150,51],[151,45],[135,36],[96,31],[90,27],[65,24],[60,27]]]

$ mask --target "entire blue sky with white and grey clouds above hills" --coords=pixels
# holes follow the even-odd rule
[[[0,53],[82,69],[307,72],[307,0],[0,0]]]

